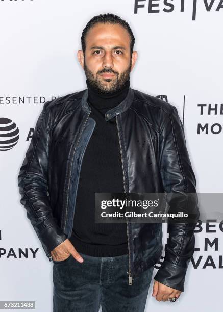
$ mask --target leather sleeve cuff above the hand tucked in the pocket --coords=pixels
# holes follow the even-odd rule
[[[51,251],[67,239],[67,236],[56,224],[40,232],[39,237],[47,256],[51,255]]]

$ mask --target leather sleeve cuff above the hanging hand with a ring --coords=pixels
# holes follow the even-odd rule
[[[186,268],[164,261],[154,279],[166,286],[183,292],[186,272]]]

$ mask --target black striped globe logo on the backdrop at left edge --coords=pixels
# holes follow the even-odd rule
[[[0,150],[12,149],[19,139],[17,125],[9,118],[0,117]]]

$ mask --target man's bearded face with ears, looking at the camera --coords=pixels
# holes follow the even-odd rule
[[[136,52],[131,58],[127,30],[119,24],[98,23],[85,40],[85,56],[78,51],[78,57],[90,84],[103,93],[120,90],[136,61]]]

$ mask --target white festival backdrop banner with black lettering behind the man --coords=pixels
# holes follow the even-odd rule
[[[19,202],[17,176],[45,101],[86,88],[77,51],[86,23],[101,13],[133,30],[131,87],[178,109],[197,192],[223,192],[223,1],[0,1],[0,301],[32,301],[38,312],[53,310],[53,263]],[[175,303],[158,302],[151,283],[145,311],[221,311],[222,235],[214,218],[197,224],[185,291]],[[167,238],[163,224],[163,246]]]

